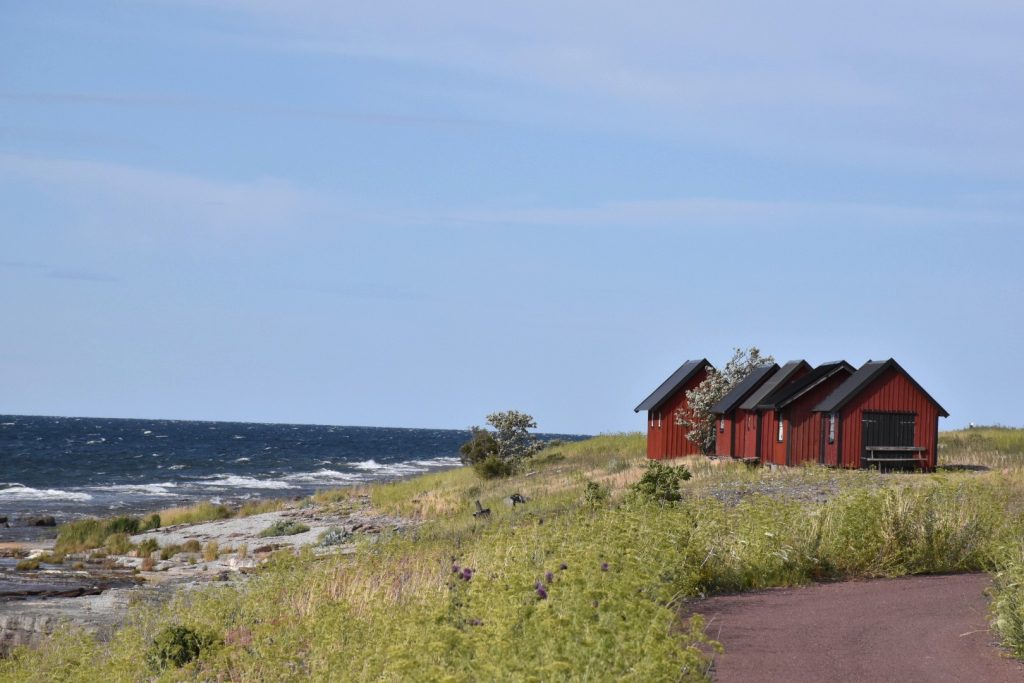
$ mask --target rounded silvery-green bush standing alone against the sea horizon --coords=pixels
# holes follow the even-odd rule
[[[541,449],[541,440],[529,433],[537,422],[525,413],[492,413],[487,424],[494,429],[470,427],[472,437],[459,449],[463,464],[471,465],[484,479],[512,474]]]

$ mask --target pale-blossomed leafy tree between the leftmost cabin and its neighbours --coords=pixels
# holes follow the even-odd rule
[[[734,348],[732,357],[721,371],[710,370],[700,384],[686,392],[689,407],[676,412],[676,424],[688,429],[686,438],[696,443],[701,453],[714,453],[715,416],[712,415],[712,407],[752,372],[773,362],[774,357],[762,355],[756,346],[746,350]]]

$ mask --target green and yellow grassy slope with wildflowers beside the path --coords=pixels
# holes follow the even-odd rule
[[[54,638],[0,665],[0,678],[146,680],[154,634],[184,624],[221,644],[163,679],[699,679],[708,646],[699,624],[677,616],[686,598],[980,568],[997,572],[1001,632],[1024,648],[1024,457],[957,438],[943,435],[942,462],[998,469],[883,476],[685,459],[688,496],[666,506],[628,494],[644,439],[624,434],[549,449],[509,479],[460,469],[326,493],[326,505],[369,493],[379,510],[423,523],[354,557],[282,556],[245,588],[140,609],[110,644]],[[585,502],[587,481],[609,500]],[[505,505],[512,493],[528,504]],[[489,519],[471,516],[475,500]]]

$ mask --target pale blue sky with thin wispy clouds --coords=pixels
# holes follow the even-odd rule
[[[641,430],[688,358],[1024,425],[1024,4],[0,0],[0,413]]]

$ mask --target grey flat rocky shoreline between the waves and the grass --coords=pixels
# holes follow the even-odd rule
[[[262,537],[288,522],[308,530]],[[279,551],[311,546],[317,553],[352,553],[358,539],[402,531],[415,522],[376,514],[366,498],[345,507],[301,506],[249,517],[162,527],[131,537],[133,546],[152,539],[161,550],[124,555],[73,553],[48,564],[53,540],[0,547],[0,656],[34,645],[61,625],[109,638],[128,615],[130,603],[165,600],[177,590],[213,581],[241,581]],[[152,545],[152,544],[151,544]],[[163,553],[162,553],[163,551]],[[168,556],[169,552],[173,552]],[[42,560],[37,567],[23,560]]]

